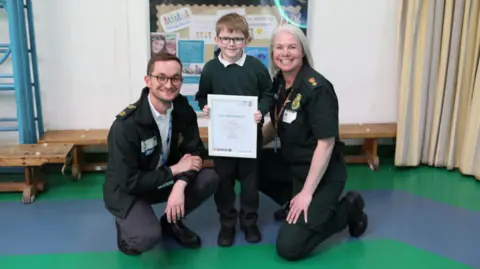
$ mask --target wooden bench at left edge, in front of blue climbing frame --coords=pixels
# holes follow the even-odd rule
[[[24,182],[0,182],[0,192],[23,192],[22,203],[32,203],[45,189],[40,168],[47,163],[66,165],[72,144],[21,144],[0,146],[0,167],[23,167]]]

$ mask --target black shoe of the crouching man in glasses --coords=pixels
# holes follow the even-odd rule
[[[200,237],[188,229],[180,220],[177,220],[176,223],[168,223],[167,218],[163,216],[160,225],[165,236],[175,239],[177,243],[186,248],[199,248],[202,244]]]

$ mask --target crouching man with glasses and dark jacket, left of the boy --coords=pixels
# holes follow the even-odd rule
[[[206,150],[197,115],[179,94],[181,75],[176,56],[154,55],[140,99],[117,115],[108,135],[104,202],[128,255],[153,248],[162,233],[185,247],[201,244],[181,219],[215,193],[219,179],[202,169]],[[165,201],[158,220],[151,205]]]

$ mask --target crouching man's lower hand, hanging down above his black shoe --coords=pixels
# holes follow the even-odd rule
[[[165,215],[168,223],[176,223],[185,216],[185,187],[187,183],[183,180],[175,182],[168,196],[167,207],[165,208]]]

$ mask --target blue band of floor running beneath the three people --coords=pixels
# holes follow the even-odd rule
[[[480,212],[398,190],[361,193],[370,216],[370,227],[363,240],[395,239],[480,268],[476,254]],[[275,242],[279,223],[273,220],[272,212],[277,208],[270,199],[261,197],[262,244]],[[163,209],[164,204],[155,206],[159,215]],[[0,206],[0,216],[2,231],[9,231],[0,240],[1,256],[117,250],[113,217],[99,199],[36,201],[30,205],[6,202]],[[212,199],[188,216],[186,224],[200,234],[206,247],[216,247],[219,223]],[[345,231],[329,241],[346,240],[355,239]],[[246,244],[240,232],[236,244]],[[179,246],[167,240],[163,247]]]

